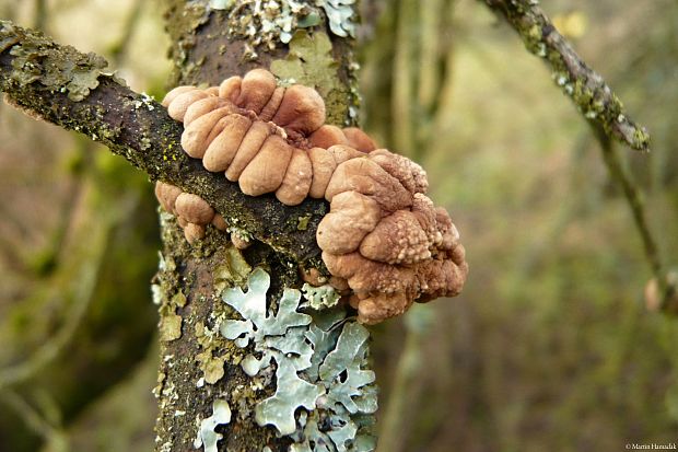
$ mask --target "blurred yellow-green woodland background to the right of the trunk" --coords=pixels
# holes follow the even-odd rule
[[[401,322],[378,331],[385,417],[391,404],[406,407],[395,427],[382,424],[379,450],[611,451],[675,441],[678,320],[644,308],[650,269],[591,130],[542,62],[480,2],[437,2],[433,50],[424,3],[408,2],[417,3],[381,2],[363,54],[364,124],[428,170],[470,275],[457,299],[421,306],[435,313],[424,337]],[[570,23],[575,47],[650,127],[651,154],[620,151],[675,265],[678,7],[540,3]],[[418,94],[422,83],[439,95],[433,108]],[[409,137],[396,132],[404,120]]]

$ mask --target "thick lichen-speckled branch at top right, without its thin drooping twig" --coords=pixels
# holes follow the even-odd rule
[[[587,120],[639,151],[650,149],[645,127],[632,121],[603,77],[591,69],[556,30],[536,0],[484,0],[521,35],[525,47],[547,60],[553,79]]]

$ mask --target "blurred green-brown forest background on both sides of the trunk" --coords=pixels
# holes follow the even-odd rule
[[[648,126],[619,149],[678,252],[678,3],[542,0]],[[0,0],[161,98],[160,0]],[[428,170],[470,264],[464,293],[374,328],[381,452],[619,451],[678,439],[678,318],[591,128],[474,0],[363,1],[362,123]],[[147,177],[0,105],[0,451],[149,451],[160,246]]]

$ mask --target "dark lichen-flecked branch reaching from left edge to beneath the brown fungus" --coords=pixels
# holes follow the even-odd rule
[[[106,144],[152,181],[201,196],[231,224],[296,260],[319,254],[315,230],[327,210],[325,202],[306,199],[284,207],[270,195],[244,195],[237,184],[190,159],[180,147],[182,125],[157,102],[105,72],[106,66],[95,54],[0,21],[0,91],[11,104]]]

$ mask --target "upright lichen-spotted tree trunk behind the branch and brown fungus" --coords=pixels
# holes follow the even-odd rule
[[[166,20],[174,43],[171,55],[175,68],[171,84],[214,85],[230,76],[242,76],[253,68],[271,68],[279,77],[293,78],[296,82],[314,85],[327,102],[328,123],[352,125],[355,116],[350,114],[355,111],[354,77],[350,70],[354,66],[351,53],[352,39],[331,35],[325,26],[319,25],[312,30],[300,28],[293,35],[290,45],[283,44],[280,36],[273,35],[256,46],[253,42],[256,36],[247,36],[245,31],[238,28],[238,23],[248,21],[261,24],[264,21],[280,19],[283,12],[274,11],[274,15],[267,19],[264,12],[255,10],[254,4],[245,3],[244,7],[236,7],[238,9],[236,13],[233,10],[210,11],[201,2],[168,1]],[[313,10],[322,12],[320,9],[313,8]],[[268,198],[268,204],[277,202],[272,196]],[[237,218],[237,215],[230,211],[224,211],[222,215],[225,218]],[[294,227],[303,228],[303,218],[290,217],[289,220]],[[270,340],[271,336],[255,337],[255,343],[243,349],[219,334],[220,325],[241,318],[241,315],[222,300],[224,293],[235,293],[224,288],[241,286],[246,291],[245,281],[253,275],[252,269],[260,267],[271,279],[267,304],[269,308],[277,305],[280,314],[282,300],[280,302],[277,300],[283,297],[285,288],[302,286],[297,267],[306,263],[257,241],[245,252],[239,252],[229,241],[226,234],[217,231],[210,231],[198,247],[190,246],[174,218],[167,215],[163,215],[162,229],[163,262],[155,286],[157,300],[161,302],[161,369],[155,390],[160,402],[156,450],[190,450],[200,441],[213,440],[202,436],[194,444],[200,437],[198,434],[200,425],[207,429],[207,434],[211,434],[210,431],[213,432],[219,422],[229,419],[229,416],[223,415],[223,410],[220,412],[223,402],[227,404],[231,416],[227,424],[215,428],[215,431],[223,436],[219,450],[259,451],[268,447],[271,451],[302,451],[313,449],[314,444],[314,450],[334,451],[347,448],[371,450],[371,441],[367,436],[362,434],[367,429],[361,426],[372,424],[369,414],[376,408],[373,385],[365,386],[363,392],[366,396],[358,397],[370,399],[369,408],[356,412],[359,415],[361,412],[367,415],[366,420],[350,415],[346,407],[328,409],[329,404],[324,405],[324,398],[318,398],[320,402],[317,404],[314,402],[313,406],[306,406],[311,409],[301,414],[301,410],[295,408],[305,394],[304,391],[311,391],[314,394],[311,396],[313,399],[317,395],[314,393],[315,389],[319,389],[320,392],[326,390],[327,394],[323,397],[331,399],[330,387],[339,384],[339,380],[323,381],[319,375],[309,378],[308,372],[302,371],[300,376],[306,382],[300,383],[297,373],[288,371],[291,360],[281,355],[277,355],[273,359],[272,367],[261,369],[254,378],[249,376],[243,371],[243,362],[248,362],[247,360],[252,360],[255,355],[257,358],[261,354],[266,356],[271,350],[276,356],[276,350],[267,349],[262,344],[264,340]],[[278,234],[284,233],[283,230],[278,231]],[[317,264],[317,260],[315,263]],[[250,289],[247,293],[249,295],[253,292],[254,289]],[[308,325],[291,327],[283,336],[276,337],[290,339],[294,334],[308,335],[309,332],[319,332],[316,320],[314,318],[314,323]],[[339,328],[341,324],[335,324],[337,333],[327,333],[331,335],[334,344],[325,345],[340,354],[344,351],[336,344],[339,329],[346,333],[341,336],[344,338],[349,337],[350,332],[364,331],[352,320],[344,322],[343,329]],[[299,352],[303,357],[302,349],[308,341],[304,341],[303,336],[297,336],[294,340],[297,344],[291,346],[295,349],[293,355],[296,357]],[[250,355],[253,346],[257,349],[255,355]],[[320,343],[316,341],[313,346],[314,362],[327,356],[327,351],[319,350]],[[367,350],[361,343],[350,352],[352,358],[362,357],[364,361]],[[322,356],[323,354],[325,355]],[[361,362],[359,368],[356,371],[372,373],[365,370],[364,362]],[[273,369],[277,369],[274,375]],[[347,369],[341,369],[341,372],[347,372]],[[331,374],[331,378],[339,379],[339,376]],[[296,392],[290,394],[290,399],[284,398],[282,394],[285,387],[281,387],[281,380],[290,385],[300,384]],[[273,394],[280,396],[269,398],[262,404],[262,401]],[[262,406],[266,406],[268,414],[259,413]],[[265,419],[270,421],[270,418],[278,416],[272,415],[276,408],[281,412],[280,416],[287,412],[287,421],[280,418],[277,428],[261,427],[260,422]],[[291,434],[290,412],[296,412],[296,424]],[[223,415],[221,419],[219,413]],[[313,422],[316,422],[315,427],[312,426]],[[351,432],[353,428],[361,430],[359,433]],[[282,429],[282,433],[285,434],[281,436],[277,429]],[[294,444],[293,449],[289,449],[291,444]],[[210,450],[207,443],[204,450]]]

